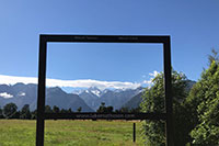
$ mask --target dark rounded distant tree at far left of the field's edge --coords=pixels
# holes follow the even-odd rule
[[[14,119],[18,115],[18,106],[14,103],[8,103],[3,106],[3,115],[5,119]]]

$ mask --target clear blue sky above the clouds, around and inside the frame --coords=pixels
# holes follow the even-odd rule
[[[171,35],[174,69],[197,80],[219,49],[218,8],[218,0],[1,0],[0,75],[37,77],[39,34]],[[48,47],[49,78],[142,82],[162,70],[159,45]]]

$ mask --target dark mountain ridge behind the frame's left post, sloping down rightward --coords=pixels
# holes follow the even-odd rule
[[[15,83],[13,86],[0,85],[0,106],[3,108],[7,103],[13,102],[18,105],[19,110],[24,104],[30,104],[31,110],[36,109],[37,101],[37,85]],[[61,88],[47,88],[46,89],[46,104],[59,106],[60,109],[70,109],[77,111],[79,106],[84,112],[93,112],[93,110],[85,104],[85,102],[73,93],[67,93]]]

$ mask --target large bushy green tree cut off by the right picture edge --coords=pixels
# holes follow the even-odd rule
[[[219,57],[216,50],[209,56],[209,63],[186,101],[193,113],[193,144],[200,146],[219,145]]]

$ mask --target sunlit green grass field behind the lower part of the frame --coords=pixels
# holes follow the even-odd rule
[[[141,146],[140,122],[126,121],[46,121],[45,146]],[[34,146],[36,122],[0,120],[0,146]]]

